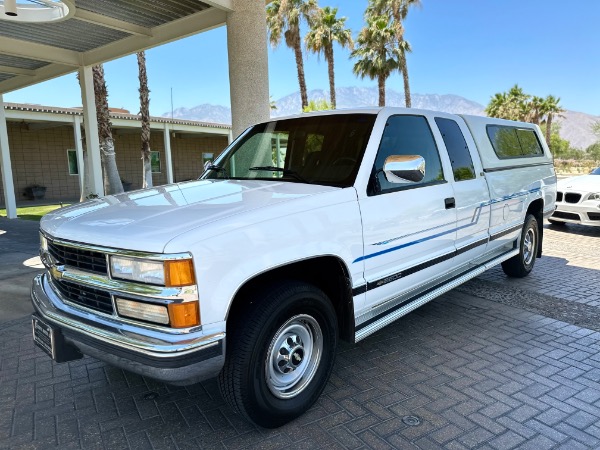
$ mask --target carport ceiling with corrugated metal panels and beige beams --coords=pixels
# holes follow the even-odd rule
[[[65,20],[0,20],[0,93],[216,28],[232,10],[232,0],[64,3],[74,6]]]

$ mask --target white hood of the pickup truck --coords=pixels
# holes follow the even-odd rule
[[[69,241],[160,253],[173,238],[208,223],[337,189],[273,181],[192,181],[61,208],[44,216],[40,227]],[[258,221],[260,214],[252,217]]]

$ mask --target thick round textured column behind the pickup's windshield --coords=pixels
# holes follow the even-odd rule
[[[269,120],[265,0],[233,0],[227,13],[227,51],[233,137]]]

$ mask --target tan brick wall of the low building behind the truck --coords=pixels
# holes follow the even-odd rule
[[[73,127],[29,130],[23,123],[8,123],[8,141],[18,204],[27,203],[23,192],[27,186],[46,186],[46,200],[79,198],[79,179],[69,175],[67,149],[75,149]],[[140,135],[118,130],[114,135],[117,166],[121,179],[131,189],[142,187]],[[216,157],[227,146],[226,137],[171,137],[174,181],[197,178],[203,171],[202,153]],[[151,150],[160,151],[161,173],[153,173],[154,185],[167,182],[163,134],[153,131]],[[0,183],[0,205],[4,206],[4,189]]]

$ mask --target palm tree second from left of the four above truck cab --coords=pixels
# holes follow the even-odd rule
[[[310,51],[325,55],[329,70],[329,95],[332,109],[336,108],[333,43],[337,42],[342,48],[354,48],[352,30],[344,28],[346,17],[336,17],[337,11],[337,8],[329,6],[319,9],[310,23],[310,31],[304,38],[306,47]]]

